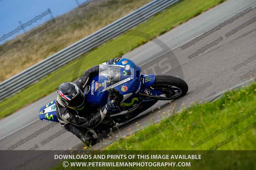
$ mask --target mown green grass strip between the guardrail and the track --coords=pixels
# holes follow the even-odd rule
[[[223,0],[183,0],[172,5],[147,22],[82,55],[25,90],[3,100],[0,103],[0,118],[11,115],[18,109],[56,91],[62,82],[75,80],[83,75],[84,70],[129,52],[222,2]],[[42,106],[44,104],[42,103]]]

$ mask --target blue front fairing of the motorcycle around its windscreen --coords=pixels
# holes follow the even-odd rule
[[[122,103],[124,103],[122,104],[122,107],[125,110],[128,110],[136,106],[137,99],[139,99],[139,92],[135,93],[135,91],[137,91],[141,85],[141,69],[131,60],[125,58],[120,60],[116,64],[106,64],[105,66],[113,66],[113,68],[116,69],[116,74],[119,74],[120,72],[120,81],[123,81],[124,83],[120,83],[119,81],[118,83],[120,84],[112,84],[110,86],[103,87],[105,81],[107,81],[107,78],[104,79],[104,77],[101,76],[99,80],[99,76],[94,77],[90,83],[90,91],[87,95],[85,95],[85,99],[87,100],[87,102],[96,106],[104,106],[108,101],[109,95],[109,92],[107,90],[104,91],[104,88],[109,88],[113,86],[113,88],[120,92],[123,96],[133,93],[132,96],[122,101]],[[118,69],[116,67],[118,67]],[[129,78],[128,81],[126,80],[127,78]]]

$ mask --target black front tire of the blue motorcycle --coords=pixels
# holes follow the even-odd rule
[[[150,88],[157,89],[159,91],[166,92],[166,93],[171,92],[172,89],[175,89],[175,88],[177,89],[177,91],[175,91],[175,94],[177,93],[176,96],[175,95],[171,96],[170,94],[169,97],[167,96],[167,97],[157,98],[157,100],[178,99],[186,95],[188,92],[188,84],[184,80],[178,77],[168,76],[168,75],[157,75],[154,85],[152,85]]]

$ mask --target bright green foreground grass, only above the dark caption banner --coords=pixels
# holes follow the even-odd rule
[[[198,147],[192,147],[248,113],[251,115],[230,126],[230,129],[225,129]],[[255,150],[256,126],[238,134],[254,122],[255,83],[244,89],[228,92],[216,101],[189,107],[129,137],[121,138],[106,150],[209,150],[232,135],[234,139],[218,150]]]

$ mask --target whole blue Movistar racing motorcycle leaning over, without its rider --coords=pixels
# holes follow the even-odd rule
[[[101,64],[99,75],[84,89],[86,102],[95,107],[104,106],[110,100],[109,96],[115,97],[120,110],[105,118],[110,122],[124,123],[153,106],[158,100],[178,99],[188,92],[187,83],[180,78],[140,74],[140,67],[132,60],[122,59],[122,56],[115,61],[116,64]],[[59,122],[55,101],[40,109],[39,119]]]

